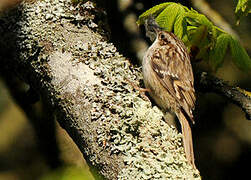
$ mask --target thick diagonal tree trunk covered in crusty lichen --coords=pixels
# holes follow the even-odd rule
[[[47,98],[105,178],[200,179],[182,135],[128,83],[142,83],[141,69],[107,41],[105,19],[91,2],[22,2],[0,19],[0,70]]]

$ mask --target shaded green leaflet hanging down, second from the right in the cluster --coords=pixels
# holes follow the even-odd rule
[[[231,36],[226,33],[222,33],[217,37],[215,47],[209,53],[209,64],[214,71],[216,71],[223,64],[231,39]]]

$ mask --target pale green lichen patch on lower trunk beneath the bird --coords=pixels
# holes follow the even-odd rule
[[[182,135],[163,121],[162,112],[138,97],[127,99],[133,103],[131,116],[112,127],[112,152],[123,154],[127,165],[118,179],[200,179],[187,165]]]

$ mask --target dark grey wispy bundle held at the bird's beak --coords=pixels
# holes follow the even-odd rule
[[[151,41],[154,41],[154,39],[157,37],[157,34],[159,31],[162,30],[161,27],[156,23],[153,16],[149,16],[148,19],[145,21],[145,29],[146,29],[146,36],[151,39]]]

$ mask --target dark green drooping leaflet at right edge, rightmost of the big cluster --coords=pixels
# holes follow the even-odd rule
[[[243,71],[251,70],[251,59],[248,56],[246,50],[240,45],[240,43],[231,38],[230,49],[233,56],[233,62],[235,65]]]

